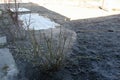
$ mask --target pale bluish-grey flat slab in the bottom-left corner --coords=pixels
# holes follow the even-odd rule
[[[8,48],[0,49],[0,80],[16,80],[18,69]]]

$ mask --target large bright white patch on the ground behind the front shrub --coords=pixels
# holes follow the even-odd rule
[[[58,23],[55,23],[48,18],[40,16],[38,13],[19,15],[19,19],[23,22],[23,27],[26,30],[28,29],[28,25],[30,30],[49,29],[60,26]]]

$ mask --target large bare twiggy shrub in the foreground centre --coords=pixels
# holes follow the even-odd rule
[[[31,33],[33,65],[39,66],[44,71],[56,71],[63,68],[75,36],[74,33],[61,28],[41,32],[33,30]]]

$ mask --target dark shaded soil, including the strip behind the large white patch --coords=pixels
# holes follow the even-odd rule
[[[38,75],[39,71],[27,69],[22,73],[29,79],[24,80],[120,80],[120,15],[70,21],[36,4],[21,6],[77,33],[77,41],[64,69],[52,75]],[[24,67],[23,63],[21,65]]]

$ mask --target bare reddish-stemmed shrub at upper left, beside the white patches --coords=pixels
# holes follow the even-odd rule
[[[13,3],[11,3],[10,0],[5,0],[4,3],[6,14],[10,17],[10,22],[8,22],[9,24],[12,24],[7,27],[11,34],[10,36],[12,37],[11,40],[14,42],[15,39],[24,39],[26,37],[26,31],[18,18],[20,3],[18,3],[17,0],[13,0]],[[14,8],[14,12],[11,11],[11,8]],[[4,24],[6,24],[6,22],[4,22]]]

